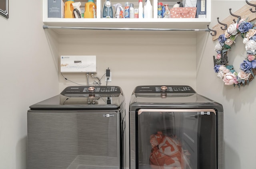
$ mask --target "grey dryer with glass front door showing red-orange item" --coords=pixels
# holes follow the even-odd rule
[[[223,169],[223,107],[190,86],[137,86],[130,169]]]

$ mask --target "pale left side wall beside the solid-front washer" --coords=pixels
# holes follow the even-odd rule
[[[58,45],[48,45],[41,6],[38,0],[10,0],[10,18],[0,16],[0,169],[27,168],[26,112],[58,93],[58,60],[52,57]]]

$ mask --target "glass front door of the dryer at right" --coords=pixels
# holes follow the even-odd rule
[[[136,121],[136,169],[216,169],[213,109],[140,109]]]

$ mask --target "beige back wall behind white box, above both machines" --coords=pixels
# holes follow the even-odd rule
[[[84,31],[86,32],[86,30]],[[60,55],[96,55],[97,74],[108,67],[112,82],[120,86],[128,109],[130,96],[138,85],[190,85],[196,87],[196,34],[184,32],[133,32],[123,34],[62,34]],[[72,43],[67,43],[72,41]],[[86,74],[63,73],[76,83],[87,84]],[[93,81],[90,79],[90,83]],[[76,85],[60,75],[60,91]],[[106,85],[105,77],[102,85]]]

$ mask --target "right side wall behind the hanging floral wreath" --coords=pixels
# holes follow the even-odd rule
[[[210,28],[228,17],[229,8],[232,12],[246,5],[243,0],[212,0],[212,19]],[[212,41],[210,34],[205,37],[202,33],[197,36],[197,78],[196,89],[220,102],[224,107],[224,168],[225,169],[255,169],[255,139],[256,139],[256,80],[249,85],[226,86],[216,76],[213,70],[212,56],[216,41]],[[242,38],[238,37],[232,49],[228,52],[228,61],[239,71],[239,65],[245,56]]]

